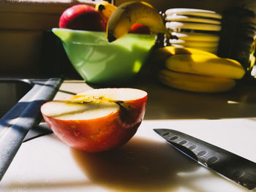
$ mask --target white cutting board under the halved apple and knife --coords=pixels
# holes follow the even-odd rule
[[[25,142],[0,191],[246,191],[191,161],[153,128],[183,131],[256,161],[255,120],[144,120],[135,137],[107,153],[83,153],[54,134]]]

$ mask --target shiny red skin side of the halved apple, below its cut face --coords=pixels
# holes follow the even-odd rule
[[[119,104],[108,116],[90,120],[59,120],[45,116],[52,131],[70,147],[96,153],[124,145],[131,139],[146,112],[147,96]]]

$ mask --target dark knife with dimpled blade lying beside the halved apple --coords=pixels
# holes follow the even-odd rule
[[[220,147],[173,129],[154,129],[177,150],[198,164],[251,191],[256,189],[256,164]]]

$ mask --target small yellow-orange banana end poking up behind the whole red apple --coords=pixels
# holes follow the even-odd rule
[[[116,6],[113,4],[110,4],[108,1],[100,1],[98,4],[96,4],[95,9],[99,11],[99,13],[102,15],[105,20],[108,20],[110,18],[110,15],[116,10]]]

